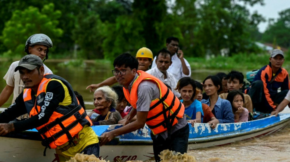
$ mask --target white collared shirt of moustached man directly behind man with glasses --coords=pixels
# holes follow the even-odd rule
[[[166,79],[164,79],[164,74],[155,66],[154,68],[147,70],[146,73],[153,75],[154,77],[160,79],[163,83],[168,84],[171,88],[171,91],[176,95],[177,98],[180,97],[180,93],[174,90],[176,88],[177,81],[174,76],[166,71]]]

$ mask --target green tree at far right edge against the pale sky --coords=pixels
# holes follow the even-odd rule
[[[281,47],[290,47],[290,8],[279,12],[279,18],[275,22],[269,20],[269,26],[263,34],[263,41],[275,43]]]

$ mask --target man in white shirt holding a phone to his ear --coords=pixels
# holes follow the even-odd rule
[[[179,40],[176,37],[169,37],[166,39],[167,50],[171,53],[172,64],[168,68],[168,72],[173,74],[176,78],[176,81],[179,81],[180,78],[190,77],[190,65],[185,58],[183,58],[183,52],[179,49]],[[152,61],[152,67],[156,66],[155,63],[156,56]]]

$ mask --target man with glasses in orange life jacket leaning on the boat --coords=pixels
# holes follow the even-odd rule
[[[129,53],[123,53],[114,60],[113,75],[123,91],[127,101],[133,106],[124,126],[103,133],[100,145],[111,141],[115,136],[143,128],[145,123],[151,130],[155,161],[162,150],[187,152],[189,126],[184,115],[184,105],[158,78],[137,71],[138,61]],[[164,109],[163,105],[171,105]],[[137,115],[137,119],[131,119]]]

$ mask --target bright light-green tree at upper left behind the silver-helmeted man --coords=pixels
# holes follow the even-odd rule
[[[56,28],[61,12],[54,10],[53,3],[44,5],[41,11],[36,7],[28,7],[20,11],[15,10],[0,37],[3,44],[9,49],[8,55],[24,55],[25,42],[29,36],[35,33],[44,33],[57,44],[57,38],[63,33],[62,29]],[[55,49],[55,48],[53,48]]]

